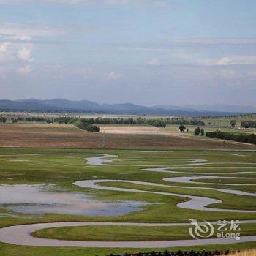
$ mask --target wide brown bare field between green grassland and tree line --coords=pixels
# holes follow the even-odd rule
[[[71,124],[0,124],[0,147],[256,149],[251,144],[194,136],[86,132]]]

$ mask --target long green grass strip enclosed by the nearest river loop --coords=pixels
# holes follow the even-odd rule
[[[217,230],[217,225],[215,225]],[[215,232],[215,234],[217,231]],[[255,235],[256,225],[241,225],[241,236]],[[165,241],[191,239],[188,227],[53,227],[38,230],[33,236],[76,241]]]

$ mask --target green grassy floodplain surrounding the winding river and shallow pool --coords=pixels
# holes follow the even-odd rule
[[[59,129],[59,128],[58,128]],[[72,127],[69,129],[73,129]],[[76,130],[75,130],[76,131]],[[79,130],[78,130],[79,131]],[[38,131],[35,131],[37,134]],[[80,131],[79,131],[80,132]],[[54,133],[54,132],[53,132]],[[37,135],[38,136],[38,135]],[[54,137],[54,136],[53,136]],[[113,165],[102,167],[91,167],[86,165],[83,158],[100,154],[116,154],[113,158]],[[107,150],[107,149],[59,149],[59,148],[1,148],[0,149],[0,184],[54,184],[52,192],[65,191],[70,193],[82,193],[89,195],[95,200],[105,202],[117,202],[121,200],[143,201],[148,204],[140,211],[116,217],[96,217],[70,214],[33,214],[20,213],[0,208],[0,227],[9,225],[21,225],[37,222],[188,222],[189,218],[200,220],[218,219],[256,219],[255,213],[233,213],[219,211],[196,211],[177,207],[178,203],[187,200],[186,195],[199,195],[222,200],[216,203],[214,208],[231,208],[256,210],[255,197],[232,195],[224,192],[217,192],[210,189],[197,189],[194,187],[211,187],[222,189],[239,189],[244,192],[256,192],[255,185],[247,182],[239,187],[219,184],[189,184],[191,188],[178,186],[188,185],[175,184],[163,181],[163,178],[184,176],[182,173],[155,173],[149,172],[145,167],[171,167],[180,172],[188,172],[198,176],[201,173],[219,173],[219,176],[234,176],[234,171],[256,171],[255,152],[250,151],[186,151],[172,150],[166,152],[151,153],[139,150]],[[205,159],[211,165],[179,166],[189,159]],[[221,163],[220,163],[221,162]],[[186,174],[188,175],[188,174]],[[189,174],[190,175],[190,174]],[[246,178],[256,178],[256,173],[236,174],[236,183],[246,182]],[[175,192],[184,194],[184,197],[154,195],[143,192],[117,192],[98,189],[87,189],[77,187],[73,183],[78,180],[94,179],[123,179],[132,181],[148,181],[159,184],[168,184],[177,187],[154,187],[127,184],[123,182],[108,182],[108,186],[126,187],[130,189],[142,189],[155,192]],[[204,180],[207,182],[215,182]],[[225,179],[225,183],[227,180]],[[216,181],[218,182],[218,180]],[[230,181],[231,182],[231,181]],[[251,181],[250,181],[251,182]],[[252,182],[251,182],[252,183]],[[153,204],[152,204],[153,203]],[[241,234],[256,234],[256,225],[241,225]],[[165,240],[188,238],[186,227],[60,227],[48,230],[39,230],[37,236],[48,238],[60,238],[70,240]],[[217,245],[217,246],[190,246],[182,249],[253,249],[255,242]],[[180,248],[171,248],[180,249]],[[159,250],[157,248],[155,251]],[[164,250],[164,249],[163,249]],[[140,249],[140,251],[152,251],[152,249]],[[37,246],[15,246],[12,244],[0,244],[1,255],[108,255],[110,253],[138,252],[138,249],[82,249],[82,248],[50,248]]]

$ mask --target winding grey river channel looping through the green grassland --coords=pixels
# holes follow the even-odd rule
[[[109,158],[117,157],[116,155],[104,154],[99,157],[89,157],[86,158],[88,165],[110,165],[112,161]],[[200,159],[191,159],[185,161],[184,165],[179,164],[179,166],[187,165],[203,165],[206,164],[205,160]],[[207,163],[208,165],[211,163]],[[241,164],[241,163],[240,163]],[[251,163],[255,165],[255,163]],[[170,173],[183,173],[175,170],[168,170],[168,168],[148,168],[143,169],[147,171],[156,171],[156,172],[170,172]],[[253,173],[252,171],[246,172],[233,172],[229,174],[246,174]],[[187,174],[187,172],[184,172]],[[190,173],[191,174],[191,173]],[[238,178],[233,176],[217,176],[218,173],[195,173],[202,174],[202,176],[182,176],[176,178],[164,178],[164,181],[176,182],[176,183],[191,183],[191,184],[206,184],[203,182],[197,182],[192,180],[197,180],[200,178],[211,179],[211,178]],[[211,174],[214,176],[207,176],[206,174]],[[240,177],[239,177],[240,178]],[[243,179],[243,177],[241,177]],[[91,189],[102,189],[102,190],[111,190],[111,191],[123,191],[123,192],[144,192],[144,193],[153,193],[158,195],[170,195],[178,196],[182,198],[189,198],[188,201],[178,203],[179,208],[187,208],[193,210],[201,211],[227,211],[227,212],[243,212],[243,213],[255,213],[256,211],[246,211],[246,210],[232,210],[226,208],[212,208],[209,205],[213,203],[222,203],[221,200],[217,200],[210,197],[201,197],[201,196],[192,196],[184,195],[170,192],[156,192],[156,191],[145,191],[140,189],[127,189],[127,188],[118,188],[101,185],[102,182],[123,182],[129,184],[138,184],[154,187],[179,187],[179,188],[190,188],[190,189],[212,189],[219,192],[225,192],[233,195],[246,195],[246,196],[256,196],[256,193],[243,192],[240,190],[233,189],[219,189],[219,188],[209,188],[209,187],[189,187],[189,186],[173,186],[167,184],[157,184],[145,181],[129,181],[129,180],[112,180],[112,179],[95,179],[95,180],[86,180],[86,181],[76,181],[74,184],[79,187],[86,187]],[[215,184],[215,183],[209,183]],[[218,184],[222,185],[222,184]],[[230,186],[238,186],[240,184],[227,184]],[[252,184],[253,185],[253,184]],[[214,223],[214,222],[212,222]],[[256,220],[246,220],[241,221],[241,223],[256,223]],[[54,223],[37,223],[31,225],[16,225],[10,227],[4,227],[0,229],[0,241],[9,244],[16,245],[26,245],[26,246],[79,246],[79,247],[112,247],[112,248],[158,248],[158,247],[171,247],[171,246],[193,246],[193,245],[208,245],[208,244],[233,244],[235,242],[245,242],[245,241],[256,241],[256,236],[242,236],[239,241],[234,240],[234,238],[208,238],[200,240],[176,240],[176,241],[62,241],[56,239],[48,238],[36,238],[31,236],[36,230],[48,227],[72,227],[72,226],[104,226],[104,225],[113,225],[113,226],[187,226],[189,223],[127,223],[127,222],[54,222]]]

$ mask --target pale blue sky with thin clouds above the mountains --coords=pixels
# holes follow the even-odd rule
[[[256,106],[255,0],[0,0],[0,99]]]

